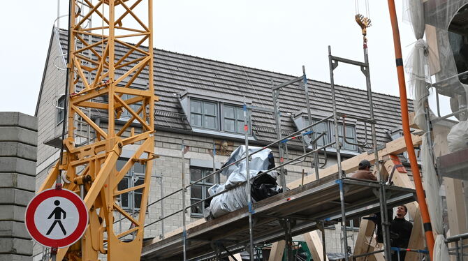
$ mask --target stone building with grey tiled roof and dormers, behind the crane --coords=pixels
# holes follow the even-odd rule
[[[116,54],[123,46],[116,46]],[[50,46],[45,61],[41,91],[38,96],[36,117],[38,117],[38,158],[36,168],[36,190],[45,179],[48,170],[59,157],[59,144],[64,119],[64,96],[66,78],[66,32],[52,30]],[[122,73],[123,74],[123,73]],[[144,73],[142,74],[144,75]],[[210,174],[214,168],[219,169],[226,162],[231,152],[244,144],[244,115],[242,105],[273,109],[272,83],[280,84],[293,79],[291,75],[274,73],[267,70],[247,68],[241,65],[213,61],[186,54],[178,54],[165,50],[154,50],[154,89],[159,96],[155,110],[155,153],[159,156],[154,160],[151,180],[151,193],[146,223],[152,223],[161,216],[182,209],[182,193],[177,193],[168,199],[151,204],[163,195],[168,195],[182,186],[182,173],[185,179],[195,181]],[[137,79],[132,88],[145,89],[147,79]],[[332,114],[330,84],[307,80],[309,87],[312,122],[319,121]],[[337,95],[337,110],[353,117],[370,118],[367,92],[362,89],[335,86]],[[376,118],[376,135],[378,144],[384,144],[398,135],[400,129],[400,100],[396,96],[373,93],[374,114]],[[285,137],[296,130],[307,126],[310,122],[307,116],[305,91],[301,84],[291,84],[284,87],[279,95],[279,111],[281,112],[281,136]],[[90,110],[89,116],[96,124],[105,128],[107,118],[98,110]],[[249,144],[263,147],[278,139],[275,114],[249,111]],[[118,123],[124,124],[130,115],[122,112]],[[76,144],[86,144],[96,137],[92,128],[82,124],[77,119],[75,126]],[[341,123],[341,126],[343,123]],[[358,147],[353,143],[372,143],[370,126],[353,119],[344,122],[344,133],[339,133],[343,144],[344,159],[356,156],[366,150],[366,146]],[[138,133],[138,124],[133,126]],[[312,137],[319,137],[317,145],[323,146],[335,140],[332,121],[323,121],[314,126]],[[182,161],[182,143],[189,147]],[[310,144],[302,141],[288,142],[286,159],[292,159],[310,151]],[[124,147],[121,158],[129,158],[135,148]],[[277,145],[272,147],[275,163],[279,164]],[[327,167],[336,163],[336,151],[327,148],[319,154],[319,167]],[[300,179],[302,174],[314,174],[314,158],[307,156],[305,161],[286,167],[286,181]],[[117,163],[119,170],[119,163]],[[184,168],[184,170],[182,170]],[[119,184],[119,190],[134,186],[142,181],[145,172],[142,165],[134,165]],[[207,188],[226,177],[205,179],[196,184],[186,193],[185,205],[188,206],[207,196]],[[287,183],[286,182],[286,183]],[[138,191],[121,195],[120,206],[134,213],[138,211],[135,205],[141,199]],[[196,205],[187,211],[187,223],[203,218],[203,206]],[[116,217],[118,220],[119,217]],[[129,226],[129,223],[117,222],[115,228]],[[166,218],[163,222],[149,225],[145,237],[160,237],[182,226],[181,214]],[[349,223],[350,230],[359,226],[358,220]],[[331,226],[327,229],[327,252],[342,252],[339,230]],[[349,233],[354,237],[354,233]],[[353,245],[353,237],[348,239]],[[35,260],[40,260],[43,249],[36,246]]]

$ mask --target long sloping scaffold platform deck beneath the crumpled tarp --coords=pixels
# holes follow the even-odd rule
[[[332,174],[254,203],[254,244],[284,239],[285,228],[281,225],[284,221],[291,224],[292,236],[318,229],[321,221],[340,221],[340,186],[344,191],[346,220],[380,211],[379,182],[340,179],[338,174]],[[385,191],[388,208],[416,200],[416,192],[411,188],[385,186]],[[237,253],[245,249],[249,244],[248,211],[244,207],[187,229],[187,260],[214,257],[219,246],[225,256],[228,251]],[[153,240],[142,249],[141,260],[182,259],[182,231]]]

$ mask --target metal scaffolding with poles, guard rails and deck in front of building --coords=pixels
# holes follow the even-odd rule
[[[233,256],[233,253],[247,250],[249,252],[250,260],[254,260],[254,249],[258,244],[269,244],[281,239],[286,241],[286,260],[293,260],[293,251],[291,246],[292,237],[323,228],[323,225],[329,223],[342,223],[342,233],[344,237],[344,257],[348,261],[350,258],[347,253],[347,235],[346,235],[346,219],[361,217],[368,214],[374,214],[376,212],[382,213],[382,224],[383,224],[383,238],[384,238],[384,250],[385,255],[390,258],[392,249],[390,248],[390,237],[388,227],[387,208],[396,207],[400,204],[406,204],[408,202],[414,202],[414,190],[411,188],[402,188],[398,186],[391,186],[390,181],[386,181],[383,173],[379,169],[381,163],[381,156],[379,156],[380,150],[385,150],[385,146],[377,147],[376,143],[376,120],[374,119],[374,111],[372,104],[372,89],[370,86],[370,73],[369,63],[367,59],[367,46],[364,47],[364,62],[353,61],[350,59],[344,59],[341,57],[335,57],[331,54],[331,48],[328,47],[328,57],[330,65],[330,89],[332,96],[332,116],[325,117],[319,121],[312,123],[311,108],[309,102],[309,93],[307,87],[307,77],[305,74],[305,68],[302,67],[302,76],[296,77],[288,82],[275,85],[272,83],[272,98],[274,110],[263,109],[259,107],[249,107],[244,101],[244,138],[245,147],[249,148],[249,117],[252,110],[261,110],[265,113],[273,112],[275,115],[275,122],[277,124],[277,140],[270,144],[254,151],[249,155],[249,149],[246,149],[246,154],[239,160],[221,167],[219,170],[214,170],[212,173],[205,175],[197,181],[193,181],[189,184],[185,184],[184,178],[184,153],[185,146],[182,141],[181,147],[181,158],[182,158],[182,186],[181,188],[173,191],[172,193],[161,197],[159,200],[152,202],[156,204],[162,202],[164,199],[175,195],[176,193],[182,193],[182,209],[175,211],[166,216],[161,216],[149,225],[154,225],[161,221],[164,221],[170,216],[182,213],[182,230],[170,233],[168,237],[161,237],[161,239],[153,241],[151,244],[147,244],[142,250],[142,260],[156,259],[156,260],[203,260],[209,258],[215,258],[221,260],[226,256]],[[351,64],[359,66],[361,71],[366,77],[367,87],[367,98],[369,100],[370,107],[370,118],[363,117],[352,117],[350,115],[343,114],[337,110],[336,98],[335,98],[335,84],[333,71],[337,68],[339,63]],[[300,83],[300,87],[305,91],[307,100],[307,115],[309,117],[309,124],[304,128],[282,137],[281,135],[281,114],[279,112],[279,91],[282,88],[287,87],[291,84]],[[357,167],[357,160],[368,158],[371,162],[374,162],[374,170],[376,170],[379,181],[368,181],[358,180],[346,177],[346,173],[342,170],[342,161],[340,149],[342,148],[342,142],[339,137],[339,133],[345,133],[346,118],[355,119],[362,121],[365,124],[365,142],[364,143],[350,143],[359,147],[368,147],[367,144],[367,124],[370,124],[372,129],[372,150],[351,158],[353,167]],[[313,127],[320,124],[323,121],[330,121],[334,126],[335,140],[324,144],[321,147],[316,145],[316,139],[312,139],[309,136],[314,133]],[[342,120],[342,129],[339,129],[339,120]],[[323,135],[323,133],[322,133]],[[285,151],[287,151],[287,144],[289,141],[294,140],[296,137],[302,137],[302,145],[304,146],[304,153],[293,159],[284,159]],[[309,139],[306,139],[309,137]],[[305,140],[309,140],[310,144],[305,144]],[[417,140],[417,139],[416,139]],[[343,135],[343,142],[348,142],[345,135]],[[396,142],[401,142],[397,140]],[[418,142],[418,141],[416,141]],[[268,173],[274,170],[279,170],[280,184],[283,188],[290,186],[290,190],[284,190],[283,193],[269,197],[265,200],[253,203],[250,195],[250,184],[256,177],[252,178],[249,174],[249,161],[247,160],[250,156],[257,154],[260,151],[268,149],[272,146],[278,146],[279,150],[279,165],[271,168],[264,172]],[[312,150],[306,151],[305,146],[312,146]],[[337,156],[337,165],[328,167],[326,170],[328,173],[325,176],[321,176],[319,171],[319,152],[326,152],[327,148],[335,147],[335,153]],[[395,146],[389,146],[393,148]],[[386,151],[387,154],[400,154],[404,151],[404,147],[397,149],[397,151]],[[287,154],[287,152],[286,152]],[[286,184],[285,170],[284,167],[289,164],[296,163],[298,161],[304,161],[307,156],[314,156],[314,170],[315,180],[312,182],[302,182],[298,184],[297,181],[293,184]],[[237,184],[231,188],[226,188],[221,193],[210,195],[203,200],[191,203],[186,206],[185,203],[185,192],[188,188],[191,188],[194,184],[198,184],[200,181],[214,177],[223,170],[245,161],[247,166],[247,182]],[[353,169],[349,164],[347,165],[348,170]],[[393,171],[395,170],[395,167]],[[325,172],[325,170],[324,170]],[[390,175],[390,179],[392,175]],[[312,177],[309,177],[310,180]],[[187,228],[185,212],[187,209],[196,206],[197,204],[203,204],[206,200],[210,200],[217,195],[231,191],[238,186],[247,186],[247,206],[237,211],[233,211],[229,214],[214,218],[213,220],[206,221],[205,223],[198,223],[196,225]],[[370,189],[372,188],[372,189]],[[312,203],[311,203],[312,202]],[[150,204],[150,205],[151,205]],[[325,232],[322,229],[323,239],[323,258],[326,259],[326,246],[325,246]],[[363,255],[372,255],[379,251],[372,253],[365,253]]]

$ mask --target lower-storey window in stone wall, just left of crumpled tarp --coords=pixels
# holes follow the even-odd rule
[[[206,167],[190,167],[190,182],[193,183],[195,181],[198,181],[198,179],[206,177],[208,174],[212,173],[212,171],[213,169],[209,169]],[[197,184],[193,184],[190,187],[190,204],[195,204],[196,202],[209,197],[210,194],[208,193],[208,188],[213,186],[213,184],[214,176],[211,176],[207,179],[203,179]],[[191,215],[203,216],[203,205],[203,202],[200,202],[195,206],[191,207]]]

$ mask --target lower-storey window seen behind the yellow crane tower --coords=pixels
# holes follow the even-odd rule
[[[129,161],[128,158],[119,158],[117,160],[116,168],[117,170],[122,170],[122,167]],[[133,186],[139,186],[145,182],[145,165],[141,165],[136,162],[130,168],[129,172],[125,174],[125,177],[119,182],[117,186],[119,191],[122,191],[126,188],[131,188]],[[129,191],[119,195],[118,199],[120,202],[120,207],[127,211],[136,211],[140,209],[141,197],[143,189],[137,189],[136,191]]]

